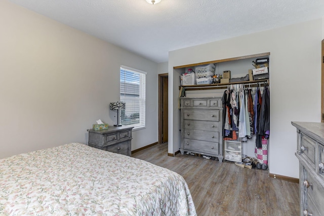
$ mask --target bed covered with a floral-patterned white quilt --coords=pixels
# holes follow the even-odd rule
[[[184,178],[81,143],[0,160],[0,215],[196,215]]]

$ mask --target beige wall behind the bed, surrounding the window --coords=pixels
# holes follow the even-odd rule
[[[87,142],[109,102],[119,100],[119,66],[147,71],[146,129],[132,150],[157,141],[157,63],[0,0],[0,158]]]

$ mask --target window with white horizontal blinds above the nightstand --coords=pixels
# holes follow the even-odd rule
[[[120,66],[120,101],[125,103],[120,112],[122,125],[145,127],[145,77],[144,71]]]

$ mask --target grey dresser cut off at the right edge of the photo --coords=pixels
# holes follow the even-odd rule
[[[297,128],[300,215],[324,214],[324,123],[292,122]]]

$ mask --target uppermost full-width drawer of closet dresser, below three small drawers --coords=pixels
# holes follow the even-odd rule
[[[218,110],[184,110],[183,118],[190,120],[201,120],[201,121],[219,121]]]

